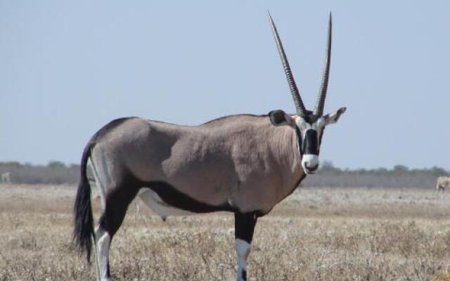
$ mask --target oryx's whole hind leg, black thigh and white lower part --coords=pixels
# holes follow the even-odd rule
[[[97,276],[101,281],[111,280],[109,252],[113,236],[119,230],[124,220],[127,208],[136,197],[138,188],[131,185],[121,185],[110,192],[105,200],[105,210],[101,215],[95,231]]]

